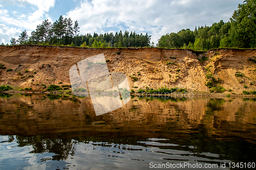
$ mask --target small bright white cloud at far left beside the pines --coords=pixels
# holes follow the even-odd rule
[[[10,40],[11,38],[15,38],[16,40],[18,39],[18,36],[20,35],[20,33],[23,32],[23,29],[16,29],[16,28],[9,28],[4,24],[0,24],[0,43],[9,43],[10,44]]]

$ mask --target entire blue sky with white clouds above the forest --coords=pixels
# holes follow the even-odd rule
[[[60,15],[78,21],[80,34],[135,31],[152,35],[151,41],[167,33],[195,26],[227,22],[244,0],[27,0],[26,6],[0,2],[0,43],[10,44],[22,31],[30,33],[43,20],[52,23]],[[6,3],[7,2],[7,5]],[[20,3],[20,0],[18,0]],[[6,5],[6,6],[5,6]]]

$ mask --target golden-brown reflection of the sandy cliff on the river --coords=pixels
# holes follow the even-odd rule
[[[59,98],[59,99],[58,99]],[[54,100],[55,99],[55,100]],[[95,116],[90,98],[32,95],[0,98],[1,135],[69,132],[198,132],[209,136],[255,139],[256,102],[252,99],[139,99]]]

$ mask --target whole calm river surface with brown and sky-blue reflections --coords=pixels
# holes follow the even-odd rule
[[[255,99],[136,97],[96,116],[89,98],[0,96],[0,169],[256,163]]]

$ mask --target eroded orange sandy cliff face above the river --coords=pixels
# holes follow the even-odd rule
[[[199,54],[190,50],[160,48],[0,46],[0,63],[6,67],[0,69],[0,83],[40,91],[45,89],[38,84],[49,86],[62,82],[61,85],[70,85],[71,66],[102,53],[109,60],[109,71],[126,74],[131,89],[136,86],[154,89],[167,86],[209,91],[205,85],[210,81],[206,77],[207,73],[219,79],[218,84],[226,90],[231,89],[237,94],[243,90],[256,89],[256,63],[249,61],[250,58],[255,59],[256,50],[235,49],[218,49]],[[8,68],[12,71],[7,71]],[[138,78],[135,82],[134,77]]]

